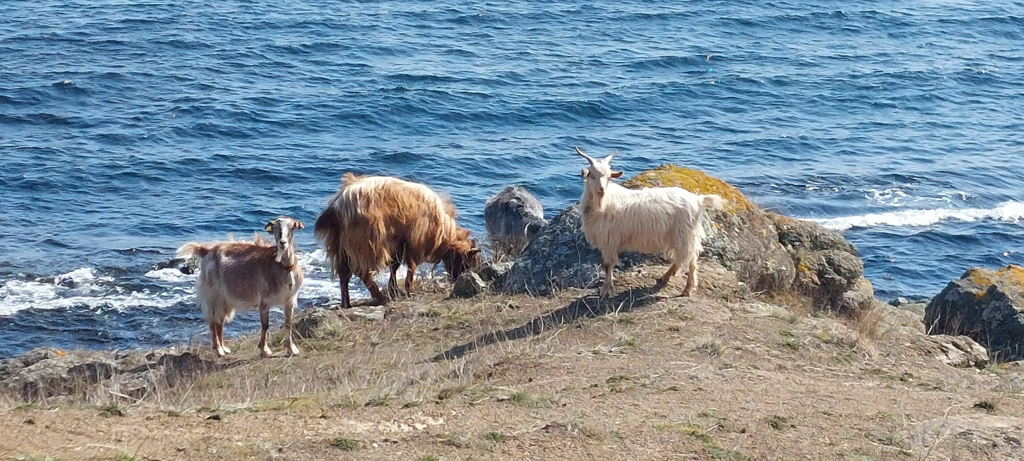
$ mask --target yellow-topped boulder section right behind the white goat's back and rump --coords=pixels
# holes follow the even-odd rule
[[[634,189],[676,186],[693,193],[721,195],[726,203],[721,211],[710,213],[703,255],[755,291],[780,291],[792,286],[793,259],[779,243],[774,224],[739,189],[703,172],[673,165],[640,173],[623,185]]]

